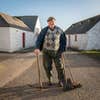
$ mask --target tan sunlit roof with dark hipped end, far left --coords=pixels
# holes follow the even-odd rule
[[[23,21],[4,13],[0,13],[0,27],[14,27],[32,31]]]

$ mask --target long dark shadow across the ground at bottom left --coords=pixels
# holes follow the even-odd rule
[[[21,100],[30,100],[34,98],[57,96],[63,93],[61,87],[52,86],[50,88],[40,89],[37,84],[34,85],[24,85],[9,88],[0,88],[0,100],[8,100],[14,98],[20,98]]]

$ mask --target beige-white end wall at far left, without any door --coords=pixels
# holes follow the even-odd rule
[[[0,27],[0,51],[10,51],[10,30]]]

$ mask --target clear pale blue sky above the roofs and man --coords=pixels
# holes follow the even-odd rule
[[[63,30],[71,24],[100,14],[100,0],[0,0],[0,12],[10,15],[38,15],[42,27],[54,16]]]

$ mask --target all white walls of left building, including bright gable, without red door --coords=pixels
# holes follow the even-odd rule
[[[39,18],[35,26],[35,31],[29,32],[12,27],[0,27],[0,51],[13,52],[22,47],[22,33],[25,33],[25,48],[35,46],[38,34],[41,31]]]

